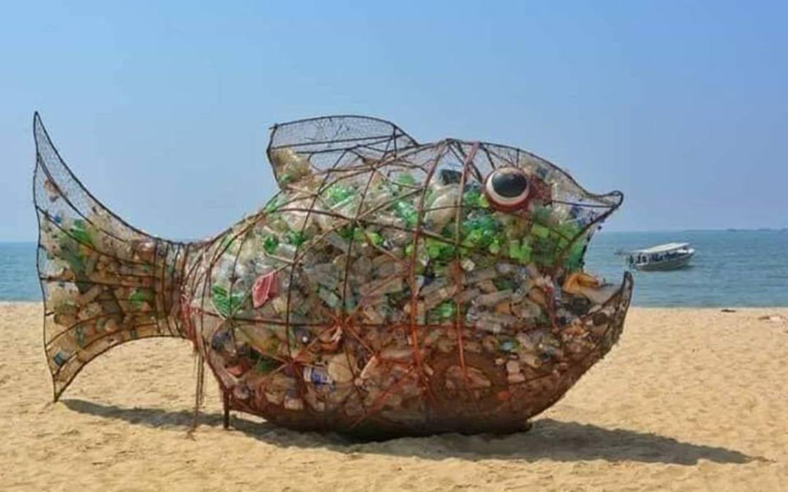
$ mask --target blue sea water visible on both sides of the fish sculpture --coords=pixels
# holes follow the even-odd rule
[[[634,271],[636,306],[788,306],[788,230],[608,233],[587,252],[586,270],[619,282],[626,255],[619,250],[689,242],[697,250],[689,267]],[[0,300],[41,300],[35,243],[0,243]]]

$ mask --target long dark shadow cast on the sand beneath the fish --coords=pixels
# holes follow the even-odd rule
[[[69,409],[106,419],[155,428],[191,427],[194,413],[171,412],[159,408],[121,408],[82,400],[61,400]],[[255,417],[234,414],[231,431],[242,432],[262,442],[281,447],[322,447],[339,453],[381,453],[417,456],[430,460],[458,457],[466,460],[508,459],[535,461],[608,460],[643,463],[696,464],[698,460],[716,463],[748,463],[764,460],[733,449],[680,442],[656,434],[626,429],[605,429],[590,424],[537,419],[527,433],[504,436],[440,434],[429,438],[399,438],[383,442],[358,442],[337,434],[289,431]],[[221,427],[220,413],[202,413],[199,424]],[[199,429],[198,429],[199,432]],[[418,442],[418,445],[414,445]]]

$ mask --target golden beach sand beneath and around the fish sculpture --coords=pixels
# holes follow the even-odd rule
[[[775,315],[774,319],[759,319]],[[357,443],[246,415],[188,341],[113,349],[57,404],[40,304],[0,304],[2,490],[788,490],[788,309],[633,308],[533,429]]]

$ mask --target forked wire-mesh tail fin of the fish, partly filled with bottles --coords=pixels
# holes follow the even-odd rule
[[[44,349],[57,401],[113,346],[189,337],[180,289],[191,245],[144,233],[104,207],[63,162],[38,113],[33,133]]]

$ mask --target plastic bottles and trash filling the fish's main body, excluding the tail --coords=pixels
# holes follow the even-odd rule
[[[619,193],[509,147],[281,131],[282,192],[217,240],[191,304],[235,408],[372,434],[522,427],[615,342],[626,289],[582,264]],[[512,172],[525,188],[496,191]]]

